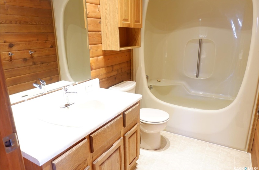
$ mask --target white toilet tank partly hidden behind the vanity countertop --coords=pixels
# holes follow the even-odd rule
[[[110,90],[124,91],[129,93],[136,92],[136,82],[135,81],[123,81],[109,88]]]

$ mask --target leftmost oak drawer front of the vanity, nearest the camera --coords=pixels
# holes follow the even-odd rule
[[[83,170],[89,169],[89,145],[87,139],[52,161],[53,170]]]

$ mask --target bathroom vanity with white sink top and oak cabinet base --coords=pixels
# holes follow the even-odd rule
[[[78,94],[64,111],[56,107],[63,90],[12,106],[26,169],[133,169],[142,96],[102,89],[93,81],[71,87]]]

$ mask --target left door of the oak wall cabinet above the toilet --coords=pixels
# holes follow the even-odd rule
[[[119,27],[132,27],[132,0],[119,0]]]

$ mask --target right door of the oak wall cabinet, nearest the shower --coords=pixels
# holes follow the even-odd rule
[[[142,28],[142,0],[133,0],[132,27]]]

